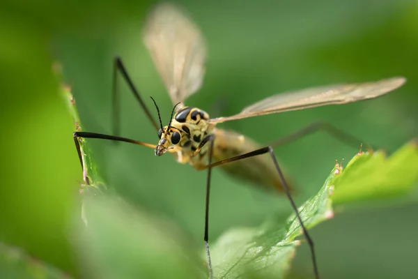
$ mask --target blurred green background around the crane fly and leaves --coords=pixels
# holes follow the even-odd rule
[[[272,93],[403,75],[408,83],[376,100],[225,123],[271,142],[324,120],[389,153],[418,135],[418,2],[180,1],[208,42],[207,74],[187,104],[227,116]],[[80,273],[68,227],[82,170],[74,126],[52,65],[61,63],[84,130],[111,133],[111,66],[122,57],[146,103],[168,121],[171,101],[141,40],[153,1],[13,1],[0,9],[0,240]],[[122,135],[157,142],[134,97],[123,90]],[[150,107],[153,111],[153,107]],[[206,173],[130,144],[90,140],[108,186],[134,204],[175,220],[203,248]],[[300,204],[322,186],[334,160],[357,152],[323,133],[276,149],[300,190]],[[172,178],[176,179],[172,179]],[[162,179],[165,178],[165,179]],[[210,239],[229,227],[291,213],[265,195],[213,172]],[[341,210],[312,229],[323,278],[411,278],[418,268],[418,195]],[[291,278],[311,278],[306,245]]]

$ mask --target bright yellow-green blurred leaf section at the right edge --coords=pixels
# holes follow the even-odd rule
[[[335,181],[334,205],[387,199],[409,193],[418,180],[418,144],[412,141],[386,158],[360,152]]]

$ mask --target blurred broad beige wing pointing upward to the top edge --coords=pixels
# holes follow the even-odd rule
[[[160,4],[150,13],[144,42],[173,104],[183,102],[200,88],[205,73],[205,42],[196,25],[176,6]]]

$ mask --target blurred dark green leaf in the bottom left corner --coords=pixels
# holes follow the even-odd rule
[[[70,279],[70,276],[38,259],[29,257],[19,248],[0,243],[0,278]]]

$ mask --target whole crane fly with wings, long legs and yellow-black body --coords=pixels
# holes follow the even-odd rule
[[[356,140],[355,137],[329,124],[317,123],[299,130],[275,144],[262,146],[232,130],[217,128],[217,124],[245,119],[251,116],[376,98],[402,86],[405,83],[405,78],[392,77],[378,82],[336,84],[280,93],[245,107],[244,110],[233,116],[210,118],[207,112],[184,104],[187,97],[200,89],[205,73],[206,43],[201,36],[199,28],[176,6],[168,3],[160,4],[148,15],[144,29],[144,42],[173,102],[169,124],[167,126],[162,125],[160,110],[153,99],[159,119],[158,123],[155,121],[139,91],[127,74],[122,60],[116,57],[114,59],[113,77],[114,135],[75,132],[74,140],[80,161],[82,162],[82,153],[78,139],[79,137],[84,137],[139,144],[154,149],[155,156],[162,156],[168,152],[173,154],[178,163],[189,163],[198,170],[207,169],[204,241],[210,278],[213,276],[208,244],[211,169],[222,166],[229,174],[251,181],[258,188],[284,192],[291,202],[307,243],[309,243],[314,274],[316,278],[319,278],[314,243],[302,222],[295,202],[293,202],[290,186],[279,167],[273,146],[295,140],[316,130],[325,130],[330,135],[339,137],[341,140]],[[130,86],[132,93],[139,101],[155,130],[157,130],[159,139],[157,144],[149,144],[119,136],[119,73]]]

